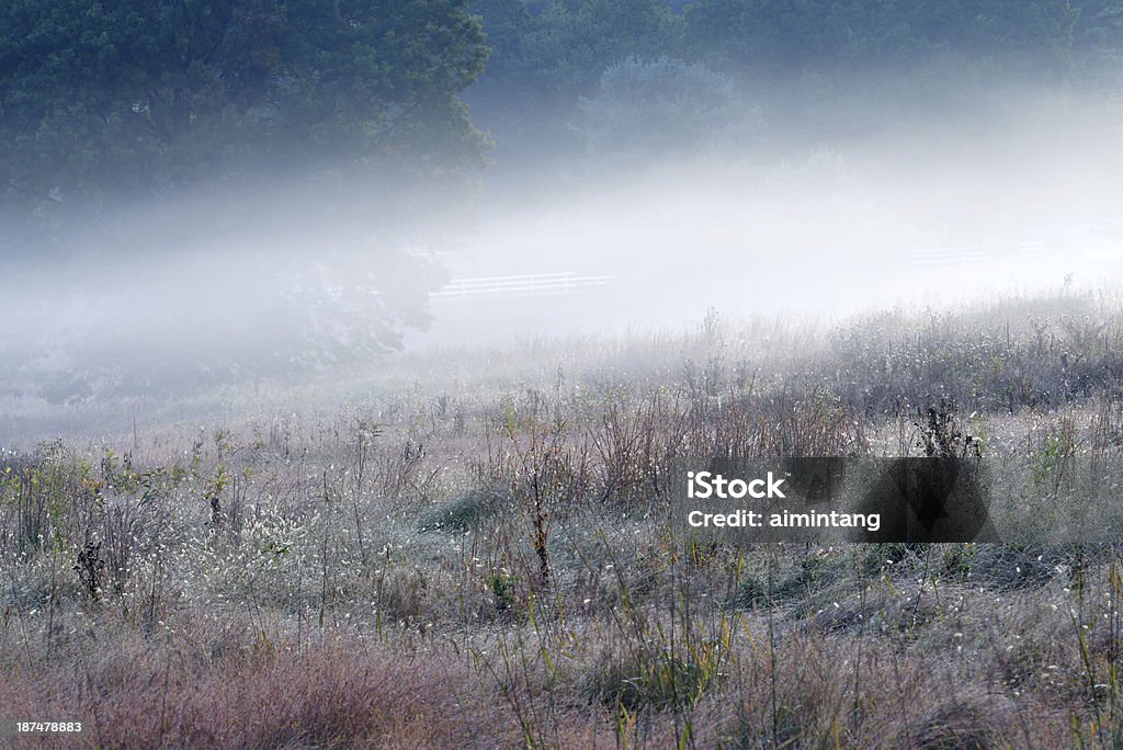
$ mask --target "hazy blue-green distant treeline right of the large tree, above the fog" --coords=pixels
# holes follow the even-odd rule
[[[628,60],[727,75],[766,120],[830,137],[935,121],[1019,86],[1123,85],[1121,0],[474,0],[495,49],[468,92],[499,155],[588,150],[582,101]],[[630,92],[631,100],[637,99]],[[661,107],[658,98],[654,107]],[[870,106],[870,104],[876,106]],[[594,149],[596,150],[596,149]],[[563,154],[565,154],[563,156]]]

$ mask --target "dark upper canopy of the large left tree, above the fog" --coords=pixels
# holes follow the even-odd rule
[[[462,0],[3,0],[6,200],[97,203],[305,164],[478,165]]]

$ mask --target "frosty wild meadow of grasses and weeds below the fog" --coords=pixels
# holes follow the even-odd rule
[[[1016,469],[996,503],[1114,496],[1111,293],[711,313],[192,399],[0,455],[0,717],[82,722],[0,739],[1123,747],[1123,546],[1046,516],[1040,543],[734,548],[668,516],[683,459],[968,438]]]

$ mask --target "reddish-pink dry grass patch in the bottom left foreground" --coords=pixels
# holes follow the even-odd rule
[[[258,634],[252,649],[213,656],[230,637],[211,653],[197,648],[198,634],[115,640],[75,671],[25,662],[0,701],[12,715],[81,717],[82,739],[98,747],[450,748],[519,737],[451,653],[392,652],[356,638],[296,652]]]

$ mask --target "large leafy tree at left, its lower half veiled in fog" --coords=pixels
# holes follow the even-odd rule
[[[60,395],[394,346],[440,277],[407,219],[485,163],[459,93],[486,56],[467,0],[0,0],[0,251],[53,253],[58,299],[133,303],[69,327],[51,359],[85,375]],[[145,275],[204,245],[200,285]]]

